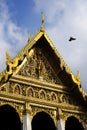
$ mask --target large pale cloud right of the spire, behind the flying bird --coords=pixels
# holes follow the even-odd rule
[[[76,74],[81,73],[82,87],[87,91],[87,1],[34,0],[37,12],[45,14],[46,30],[65,62]],[[69,43],[70,36],[76,41]]]

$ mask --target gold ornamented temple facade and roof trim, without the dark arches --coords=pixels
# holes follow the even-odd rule
[[[77,101],[76,95],[69,91],[71,85],[64,86],[62,84],[58,72],[54,71],[55,65],[53,67],[50,64],[50,60],[43,52],[44,46],[40,48],[37,45],[42,36],[45,37],[53,53],[58,57],[59,73],[62,73],[63,68],[65,68],[65,73],[71,74],[72,80],[79,86],[79,91],[85,100]],[[19,61],[21,61],[20,65]],[[0,106],[11,105],[19,114],[22,123],[24,114],[29,113],[33,119],[38,112],[43,111],[50,115],[55,126],[58,119],[65,122],[69,116],[77,117],[85,126],[87,108],[84,101],[87,101],[87,95],[80,86],[80,73],[75,77],[57,52],[44,30],[43,14],[40,31],[32,39],[28,34],[28,43],[18,55],[11,59],[6,52],[6,65],[7,69],[0,74]]]

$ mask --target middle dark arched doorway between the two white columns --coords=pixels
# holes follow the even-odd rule
[[[39,112],[33,117],[32,130],[56,130],[56,127],[49,114]]]

